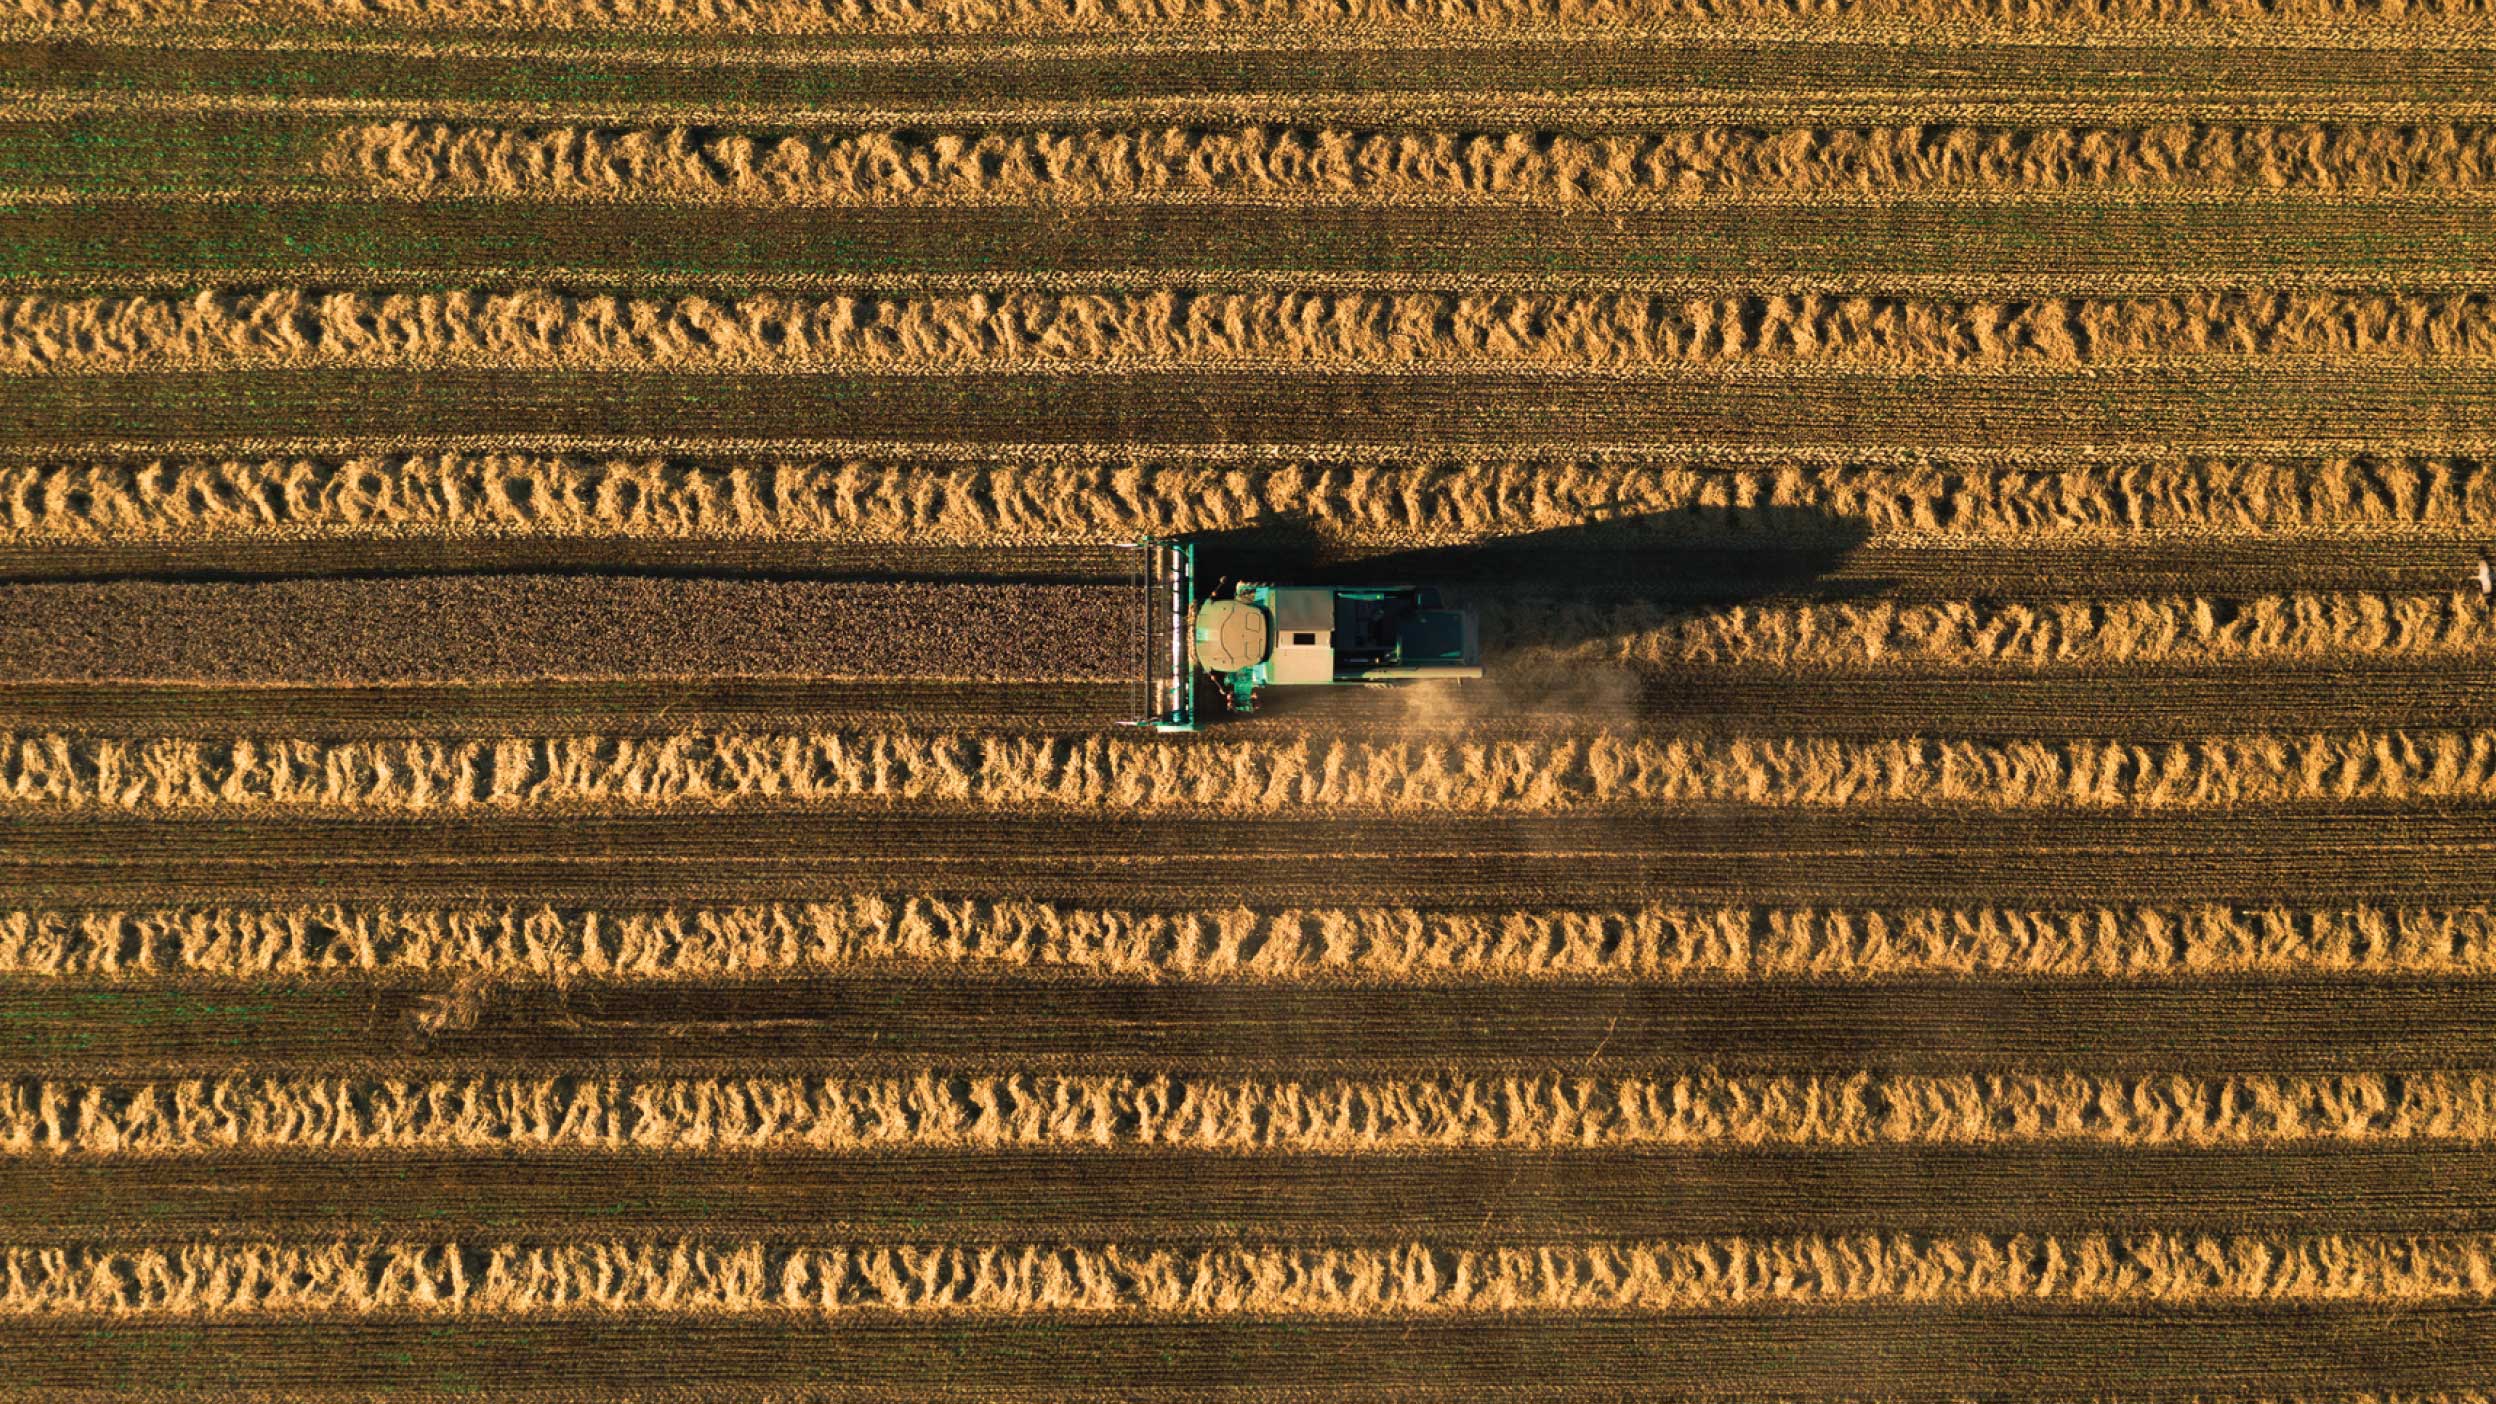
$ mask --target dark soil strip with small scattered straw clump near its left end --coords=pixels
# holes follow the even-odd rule
[[[422,1019],[447,1019],[424,1032]],[[0,989],[45,1077],[452,1069],[1378,1074],[2404,1072],[2496,1064],[2496,984],[1253,987],[1073,979]]]

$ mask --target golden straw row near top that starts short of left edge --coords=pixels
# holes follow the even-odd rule
[[[1533,130],[1138,127],[1066,132],[719,132],[364,122],[319,172],[402,195],[1088,202],[1151,197],[1670,202],[1939,190],[2486,190],[2479,122],[2144,127]]]

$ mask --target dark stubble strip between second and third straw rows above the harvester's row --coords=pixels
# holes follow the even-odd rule
[[[7,385],[5,452],[252,435],[432,440],[444,432],[901,442],[1443,447],[1710,442],[1765,447],[2189,450],[2416,442],[2496,422],[2479,367],[2349,372],[2249,357],[2087,375],[659,375],[252,370],[30,375]]]

